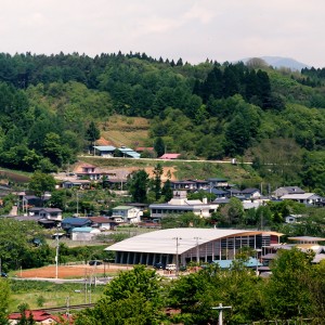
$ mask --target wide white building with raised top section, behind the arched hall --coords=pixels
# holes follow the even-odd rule
[[[217,211],[219,204],[208,204],[205,198],[204,202],[199,199],[187,199],[186,191],[173,191],[173,197],[166,204],[150,205],[151,218],[164,218],[168,214],[181,214],[185,212],[193,212],[196,216],[207,218],[212,212]]]

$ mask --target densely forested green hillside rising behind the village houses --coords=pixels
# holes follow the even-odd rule
[[[183,157],[246,156],[270,182],[322,192],[324,81],[325,69],[276,70],[259,58],[191,65],[144,53],[0,54],[0,164],[55,170],[89,145],[94,125],[120,114],[152,119],[143,145],[159,140]]]

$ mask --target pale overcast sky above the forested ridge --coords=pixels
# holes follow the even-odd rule
[[[220,63],[285,56],[325,67],[324,0],[1,0],[0,52],[145,52]]]

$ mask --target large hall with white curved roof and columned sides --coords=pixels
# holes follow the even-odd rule
[[[167,229],[148,232],[116,243],[105,250],[116,252],[115,262],[122,264],[173,263],[233,259],[242,247],[260,249],[277,244],[282,234],[233,229]]]

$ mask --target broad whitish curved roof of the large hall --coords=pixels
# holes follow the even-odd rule
[[[116,243],[105,248],[113,251],[136,251],[152,253],[183,253],[188,249],[211,240],[232,236],[248,236],[259,234],[272,234],[281,236],[275,232],[246,231],[233,229],[198,229],[198,227],[178,227],[148,232],[122,242]]]

